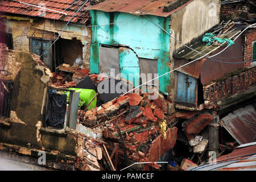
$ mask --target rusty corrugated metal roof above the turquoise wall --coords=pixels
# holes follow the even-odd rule
[[[174,2],[171,0],[106,0],[90,7],[90,10],[101,10],[106,12],[119,11],[134,15],[156,15],[167,17],[192,1],[193,0],[186,2],[170,12],[163,12],[163,9],[168,3]]]

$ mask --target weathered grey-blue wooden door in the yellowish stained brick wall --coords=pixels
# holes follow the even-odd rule
[[[40,39],[32,39],[31,41],[31,49],[32,53],[36,53],[37,55],[42,55],[41,60],[44,64],[47,65],[47,67],[52,71],[52,61],[51,61],[51,49],[49,48],[51,46],[50,40],[40,40]],[[40,51],[42,49],[42,51]]]

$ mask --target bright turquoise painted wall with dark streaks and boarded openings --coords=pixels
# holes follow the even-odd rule
[[[136,16],[119,12],[108,13],[98,10],[90,10],[90,15],[92,16],[91,24],[93,26],[118,22],[112,25],[92,27],[93,35],[90,52],[91,73],[99,73],[98,48],[100,44],[125,46],[135,52],[126,52],[126,54],[123,52],[123,55],[122,53],[119,55],[121,73],[125,73],[126,75],[128,73],[139,73],[138,57],[158,60],[159,75],[170,71],[168,67],[170,62],[168,58],[170,36],[152,23],[146,16]],[[158,23],[165,30],[169,30],[170,17],[147,16],[150,16],[154,22]],[[127,61],[129,59],[130,61]],[[169,74],[159,78],[161,92],[167,93],[167,86],[170,84],[169,78]]]

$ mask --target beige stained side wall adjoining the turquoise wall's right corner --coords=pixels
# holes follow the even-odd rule
[[[187,44],[198,38],[220,22],[220,2],[218,0],[196,0],[171,15],[170,31],[172,36]],[[181,49],[182,44],[170,38],[170,68],[174,69],[174,52]],[[176,74],[170,74],[170,96],[176,94]],[[174,99],[174,98],[173,98]]]

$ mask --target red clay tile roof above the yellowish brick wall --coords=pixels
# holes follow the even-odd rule
[[[82,6],[85,0],[19,0],[20,2],[29,3],[31,5],[42,6],[40,3],[44,3],[47,9],[60,11],[63,13],[67,13],[67,15],[59,14],[54,11],[46,10],[46,15],[41,16],[47,19],[56,19],[56,20],[64,20],[68,22],[69,19],[76,13],[76,11]],[[79,13],[71,20],[73,23],[86,23],[89,19],[88,10],[90,7],[90,1],[82,7]],[[24,5],[23,3],[19,3],[17,1],[12,0],[1,0],[0,1],[0,12],[1,13],[11,13],[11,14],[19,14],[19,15],[27,15],[27,16],[39,16],[40,11],[39,7],[34,7],[30,5]]]

